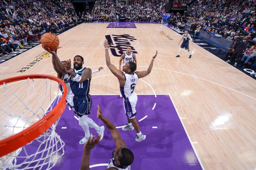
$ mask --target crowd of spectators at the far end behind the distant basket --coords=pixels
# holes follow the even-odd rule
[[[96,0],[92,11],[83,12],[81,19],[85,22],[119,21],[120,16],[130,22],[162,21],[164,7],[168,0],[128,0],[127,7],[117,7],[116,0]]]

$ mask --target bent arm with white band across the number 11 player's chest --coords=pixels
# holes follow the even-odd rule
[[[88,78],[92,77],[92,69],[91,68],[86,68],[83,72],[83,74],[80,76],[79,74],[76,74],[76,72],[71,69],[71,60],[68,59],[65,63],[65,67],[68,70],[68,73],[74,78],[75,81],[82,83]]]

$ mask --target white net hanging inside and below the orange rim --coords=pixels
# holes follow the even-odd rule
[[[61,98],[58,86],[50,79],[26,79],[0,86],[0,140],[47,115]],[[0,169],[51,169],[64,154],[65,143],[55,132],[58,122],[27,145],[2,156]]]

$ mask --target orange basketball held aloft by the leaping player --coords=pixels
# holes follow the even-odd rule
[[[47,32],[42,35],[41,44],[46,48],[50,48],[51,50],[54,50],[59,46],[60,40],[56,35],[50,32]]]

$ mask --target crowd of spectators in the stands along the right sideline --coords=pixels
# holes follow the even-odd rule
[[[191,6],[191,14],[186,11],[183,15],[171,14],[167,23],[180,30],[184,29],[184,24],[191,25],[190,34],[194,38],[203,30],[233,41],[228,48],[227,62],[235,59],[234,66],[239,62],[247,64],[250,59],[254,62],[256,49],[250,45],[256,41],[256,1],[197,0]]]

